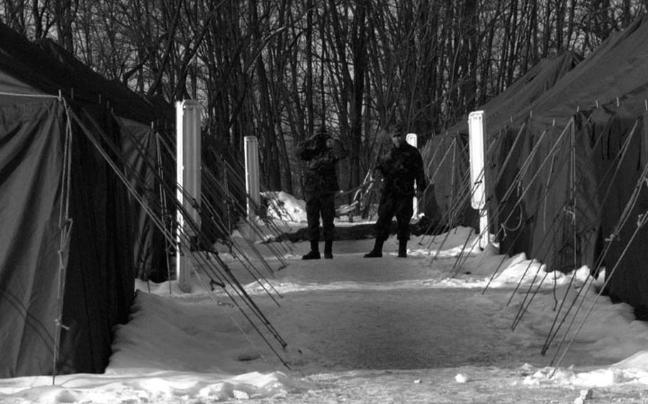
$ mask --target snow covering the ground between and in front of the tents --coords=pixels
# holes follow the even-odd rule
[[[273,198],[281,211],[303,213],[303,201]],[[493,245],[462,255],[466,239],[476,243],[468,228],[412,238],[407,259],[396,257],[392,238],[384,257],[370,260],[362,254],[372,240],[336,242],[333,260],[301,260],[305,242],[282,252],[286,267],[260,283],[248,279],[246,290],[288,343],[278,353],[290,368],[223,290],[204,287],[204,274],[194,274],[190,293],[179,292],[175,282],[138,281],[130,321],[115,330],[105,373],[2,379],[0,402],[372,403],[390,397],[445,403],[481,395],[476,402],[517,403],[536,400],[540,391],[553,402],[575,403],[627,388],[637,398],[637,389],[646,390],[648,326],[634,319],[632,307],[599,295],[603,275],[591,282],[587,267],[545,272],[523,254],[498,255]],[[278,267],[267,244],[255,245]],[[219,256],[243,273],[228,250]],[[267,289],[280,296],[278,304]],[[561,302],[580,309],[543,356]],[[552,357],[561,355],[553,366]],[[525,395],[529,389],[543,390]]]

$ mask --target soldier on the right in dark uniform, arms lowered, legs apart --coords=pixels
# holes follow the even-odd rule
[[[383,188],[376,220],[376,241],[373,250],[365,258],[382,257],[382,244],[390,236],[392,218],[396,216],[398,230],[398,256],[407,257],[409,219],[414,213],[412,197],[421,198],[427,186],[423,171],[423,159],[416,147],[405,142],[399,125],[391,128],[392,147],[387,157],[380,161],[376,170],[382,174]],[[417,188],[414,191],[414,181]]]

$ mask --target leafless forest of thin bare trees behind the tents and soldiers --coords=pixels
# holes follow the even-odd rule
[[[388,122],[427,139],[541,58],[586,57],[647,9],[648,0],[0,0],[4,23],[53,38],[105,77],[169,102],[200,100],[224,152],[242,155],[243,137],[258,136],[263,186],[296,194],[293,142],[321,119],[350,152],[342,185],[353,188]]]

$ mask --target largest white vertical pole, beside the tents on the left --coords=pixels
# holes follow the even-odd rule
[[[200,204],[200,116],[202,107],[196,100],[176,102],[176,160],[177,183],[176,198],[187,212],[177,212],[178,228],[176,233],[176,275],[178,287],[182,292],[191,292],[189,277],[192,272],[192,252],[180,251],[180,245],[187,245],[187,240],[195,242],[197,232],[194,225],[200,226],[200,216],[196,206]]]

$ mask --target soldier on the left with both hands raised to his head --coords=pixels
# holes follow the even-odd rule
[[[338,191],[336,164],[346,156],[338,139],[329,137],[325,127],[297,145],[297,156],[308,163],[305,173],[304,197],[310,252],[303,260],[319,260],[320,216],[324,234],[324,257],[333,258],[333,235],[335,226],[335,191]]]

